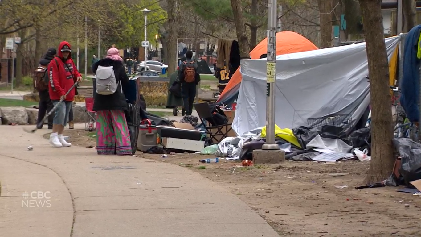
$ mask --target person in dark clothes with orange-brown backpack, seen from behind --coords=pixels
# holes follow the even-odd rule
[[[181,97],[183,98],[186,115],[192,115],[193,102],[196,97],[196,86],[200,82],[200,75],[197,73],[197,63],[192,59],[193,52],[187,51],[187,60],[180,64],[179,81],[181,82]]]

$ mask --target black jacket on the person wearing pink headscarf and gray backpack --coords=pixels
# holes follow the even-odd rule
[[[92,66],[93,73],[96,73],[98,66],[109,67],[112,66],[118,85],[117,91],[114,94],[103,95],[96,94],[93,98],[93,110],[127,110],[127,102],[121,88],[125,88],[129,84],[129,78],[125,73],[123,63],[112,59],[101,59]]]

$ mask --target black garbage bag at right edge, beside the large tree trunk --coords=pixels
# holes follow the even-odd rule
[[[421,179],[421,144],[398,137],[393,139],[393,145],[402,157],[399,173],[405,180],[405,185],[412,186],[409,182]]]

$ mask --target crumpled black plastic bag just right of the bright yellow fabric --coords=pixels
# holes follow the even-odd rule
[[[298,143],[300,143],[302,148],[305,148],[307,143],[313,140],[317,135],[324,138],[341,139],[349,144],[345,129],[333,125],[322,125],[315,128],[300,126],[292,129],[292,132],[297,137]]]

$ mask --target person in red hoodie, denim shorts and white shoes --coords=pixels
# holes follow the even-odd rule
[[[61,98],[63,102],[57,107],[53,119],[53,133],[50,135],[50,143],[53,147],[71,146],[64,140],[63,130],[69,118],[69,111],[72,108],[72,102],[75,97],[75,88],[69,94],[64,95],[70,90],[75,82],[82,81],[82,76],[77,71],[75,63],[72,60],[70,44],[62,41],[59,45],[59,56],[51,60],[48,65],[48,90],[51,102],[55,106]]]

